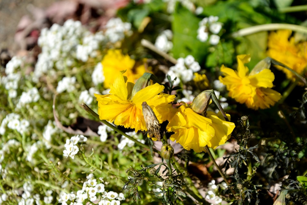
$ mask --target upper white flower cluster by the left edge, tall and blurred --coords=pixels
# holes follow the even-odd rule
[[[0,77],[0,84],[4,85],[8,90],[9,97],[17,97],[18,82],[21,80],[21,74],[15,73],[16,69],[22,64],[22,59],[16,56],[6,64],[5,73],[6,76]]]

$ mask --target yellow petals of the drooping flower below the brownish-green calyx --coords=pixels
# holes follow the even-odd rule
[[[227,114],[227,117],[230,119],[230,115]],[[174,132],[170,139],[176,140],[186,150],[203,152],[206,145],[216,148],[230,138],[235,124],[222,119],[220,113],[216,115],[214,112],[207,112],[207,117],[204,117],[187,105],[181,105],[166,130]]]

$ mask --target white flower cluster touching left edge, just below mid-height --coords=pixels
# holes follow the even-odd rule
[[[17,130],[20,134],[28,131],[29,128],[29,121],[25,119],[20,120],[20,115],[16,113],[9,113],[6,117],[2,120],[0,125],[0,134],[4,135],[6,132],[6,127]]]

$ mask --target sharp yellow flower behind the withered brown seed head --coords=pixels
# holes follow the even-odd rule
[[[139,90],[132,97],[134,84],[126,82],[122,73],[115,78],[113,85],[110,85],[110,94],[98,95],[98,114],[101,120],[114,121],[116,125],[125,128],[147,130],[144,116],[142,114],[142,103],[146,102],[153,110],[160,123],[172,117],[172,105],[169,104],[175,95],[161,93],[163,85],[158,83],[149,85]]]

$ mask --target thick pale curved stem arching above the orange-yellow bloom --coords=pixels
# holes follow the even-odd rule
[[[271,31],[271,30],[280,30],[280,29],[289,29],[296,32],[307,33],[307,28],[305,26],[299,26],[294,24],[285,24],[285,23],[269,23],[262,24],[258,26],[251,26],[248,28],[240,29],[235,33],[230,34],[231,37],[242,37],[250,34],[255,34],[261,31]]]

